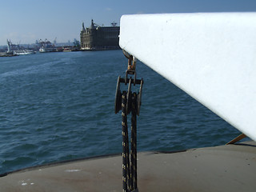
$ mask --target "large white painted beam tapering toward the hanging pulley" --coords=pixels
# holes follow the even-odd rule
[[[122,49],[256,141],[256,13],[123,15]]]

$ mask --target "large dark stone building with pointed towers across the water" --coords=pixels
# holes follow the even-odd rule
[[[112,26],[98,26],[91,20],[89,28],[85,28],[82,23],[80,33],[81,50],[116,50],[119,47],[119,31],[120,27],[115,26],[116,23],[111,23]]]

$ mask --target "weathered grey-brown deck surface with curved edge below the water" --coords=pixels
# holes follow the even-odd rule
[[[255,191],[256,143],[138,153],[139,191]],[[19,170],[1,191],[122,191],[122,155]]]

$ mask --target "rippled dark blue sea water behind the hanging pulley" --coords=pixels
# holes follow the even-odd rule
[[[0,58],[0,174],[121,154],[122,116],[114,114],[114,97],[126,68],[122,50]],[[142,62],[136,70],[144,79],[138,151],[218,146],[238,136],[238,130]]]

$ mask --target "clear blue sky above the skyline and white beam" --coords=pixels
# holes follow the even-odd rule
[[[82,22],[110,26],[122,14],[256,11],[256,0],[0,0],[0,45],[79,39]]]

